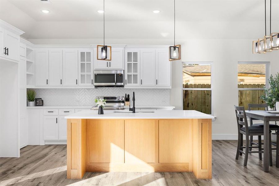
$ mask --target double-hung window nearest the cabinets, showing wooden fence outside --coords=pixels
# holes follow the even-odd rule
[[[197,110],[213,115],[213,63],[182,63],[183,110]]]

